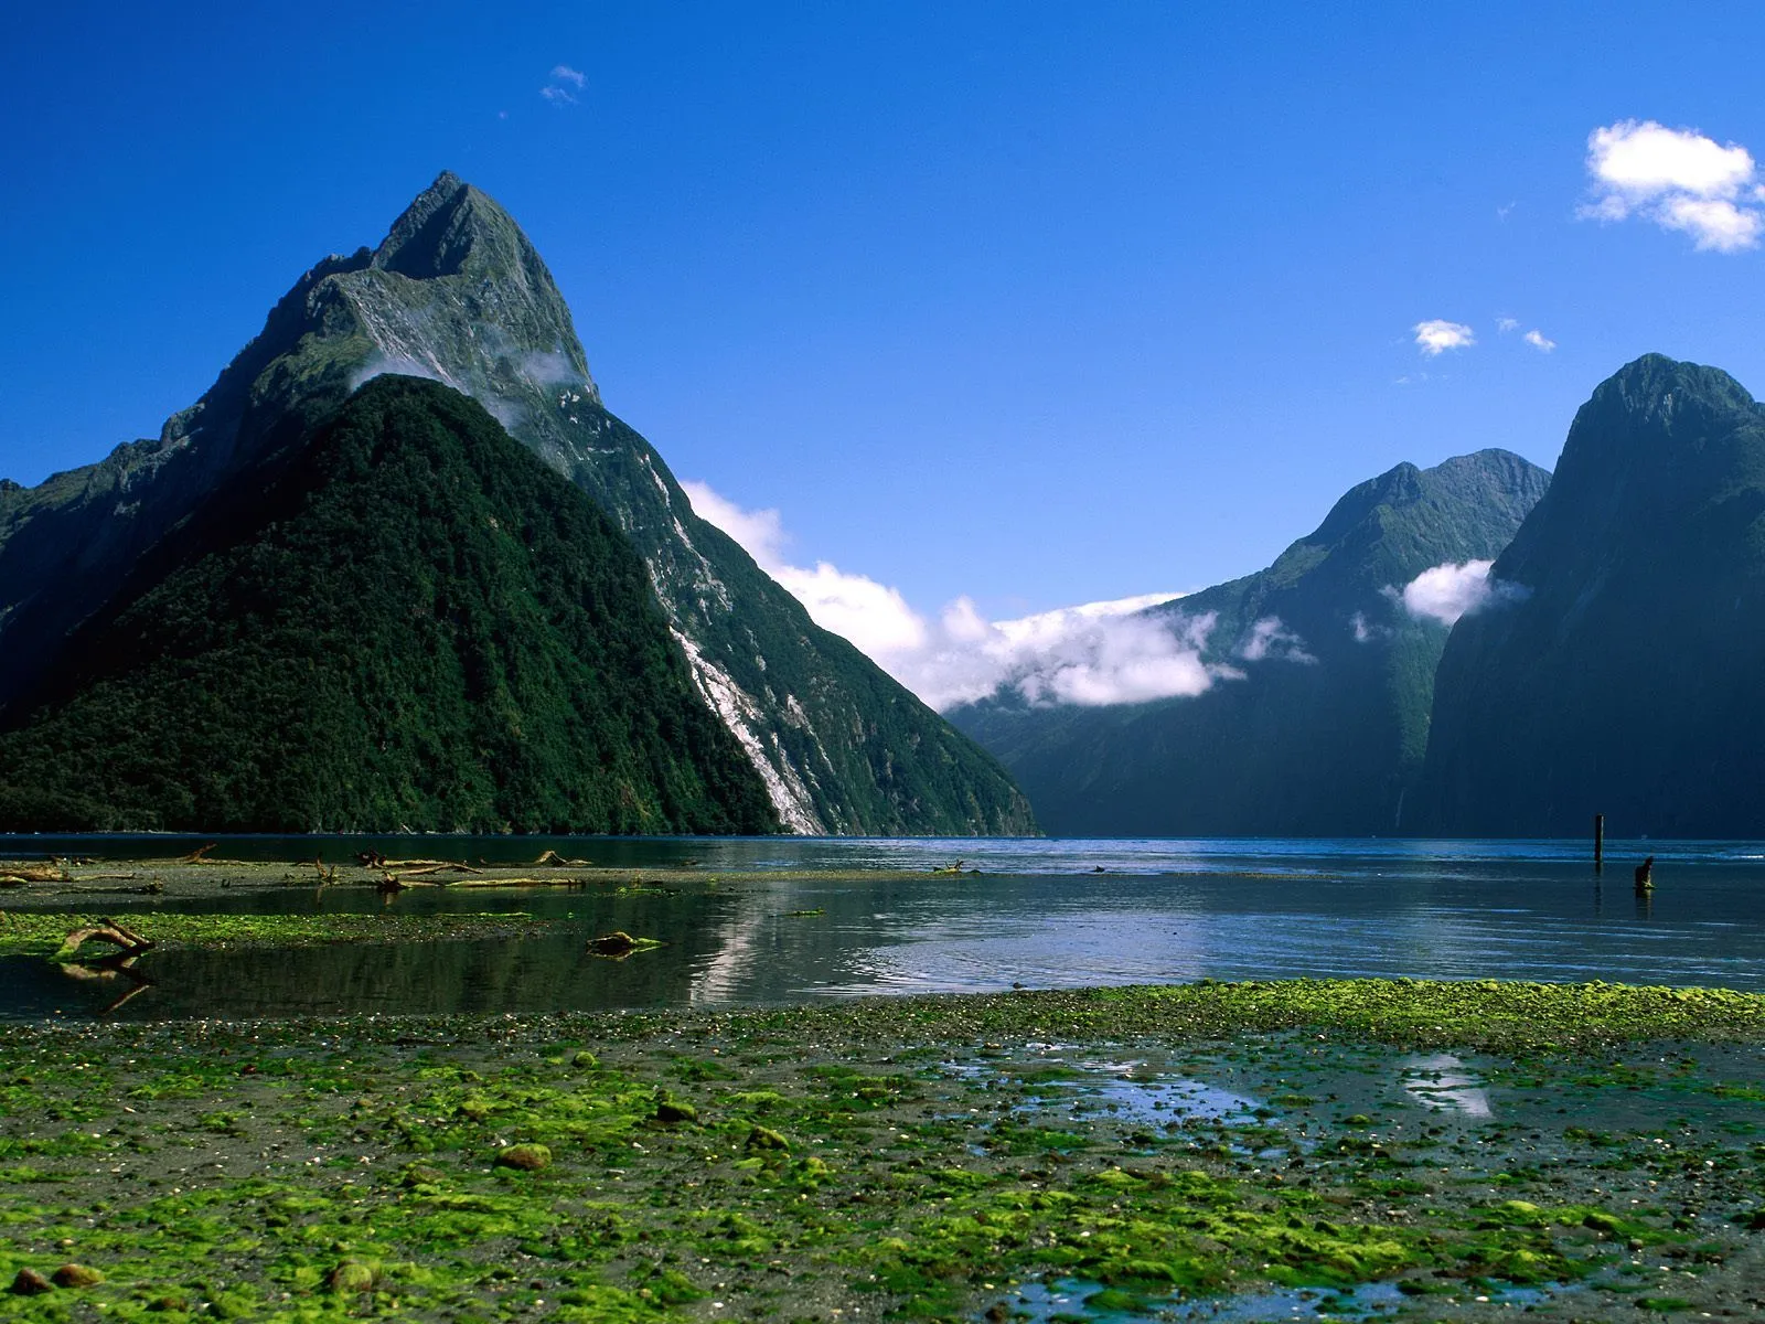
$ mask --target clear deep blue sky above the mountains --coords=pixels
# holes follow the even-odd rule
[[[681,478],[928,614],[1244,574],[1403,459],[1551,464],[1649,350],[1765,390],[1756,180],[1723,155],[1765,152],[1756,5],[69,4],[7,28],[21,482],[157,434],[443,168],[522,222],[607,404]],[[1590,134],[1627,122],[1712,139],[1657,143],[1691,192],[1594,178]],[[1474,342],[1426,353],[1435,320]]]

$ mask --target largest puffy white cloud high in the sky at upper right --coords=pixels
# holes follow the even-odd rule
[[[1765,231],[1765,191],[1753,154],[1696,129],[1668,129],[1654,120],[1594,129],[1587,173],[1594,196],[1580,214],[1594,221],[1636,215],[1687,233],[1696,247],[1716,252],[1756,247]]]

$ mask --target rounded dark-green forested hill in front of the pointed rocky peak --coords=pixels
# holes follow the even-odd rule
[[[777,826],[621,533],[409,378],[207,501],[11,726],[12,830]]]

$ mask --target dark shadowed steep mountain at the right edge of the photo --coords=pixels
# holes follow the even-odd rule
[[[1765,408],[1733,378],[1649,355],[1604,381],[1493,574],[1525,598],[1453,630],[1421,826],[1765,830]]]

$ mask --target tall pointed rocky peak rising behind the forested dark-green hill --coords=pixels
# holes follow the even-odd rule
[[[438,178],[378,249],[327,258],[157,441],[0,500],[0,713],[148,547],[229,477],[298,445],[297,406],[379,372],[477,399],[582,487],[644,560],[701,697],[791,831],[1031,831],[999,764],[699,521],[655,448],[612,417],[521,228]]]

